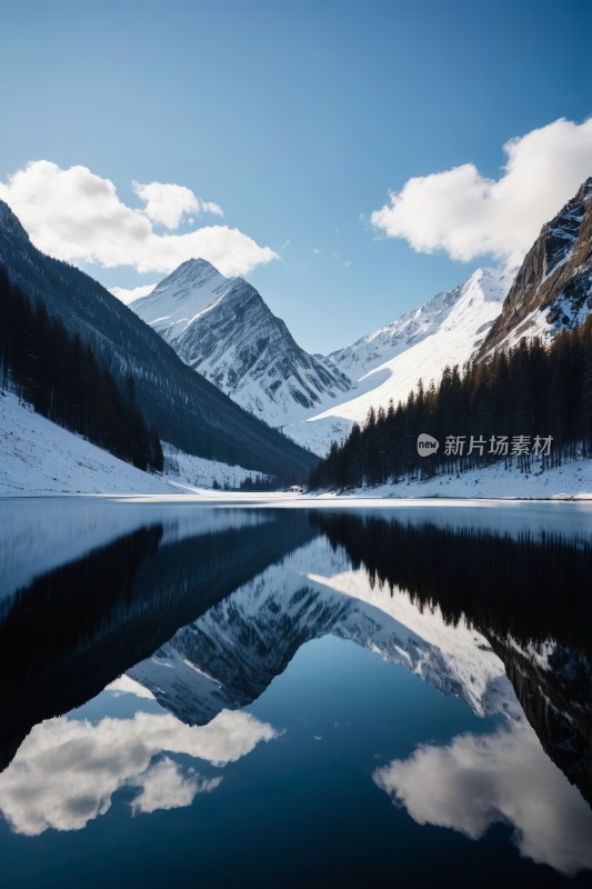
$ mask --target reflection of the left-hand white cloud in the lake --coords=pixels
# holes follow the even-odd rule
[[[128,689],[126,689],[128,690]],[[134,810],[188,806],[220,783],[183,772],[163,751],[225,766],[278,732],[249,713],[222,710],[207,726],[185,726],[170,713],[137,712],[93,725],[59,717],[36,726],[0,775],[0,812],[12,830],[36,837],[48,828],[81,830],[104,815],[119,788],[141,788]],[[162,782],[159,786],[159,779]]]

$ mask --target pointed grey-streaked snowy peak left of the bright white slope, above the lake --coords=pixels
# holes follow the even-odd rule
[[[271,426],[304,417],[351,381],[308,354],[259,292],[203,259],[183,262],[130,308],[194,370]]]

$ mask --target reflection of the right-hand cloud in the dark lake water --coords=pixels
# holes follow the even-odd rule
[[[461,735],[377,769],[373,780],[419,825],[473,840],[511,825],[520,852],[563,873],[592,868],[592,811],[521,720],[493,735]]]

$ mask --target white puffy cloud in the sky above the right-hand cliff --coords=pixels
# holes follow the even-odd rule
[[[592,176],[592,118],[560,119],[511,139],[506,163],[489,179],[474,163],[409,179],[371,216],[391,238],[422,253],[444,250],[469,261],[489,254],[520,264],[544,222]]]

